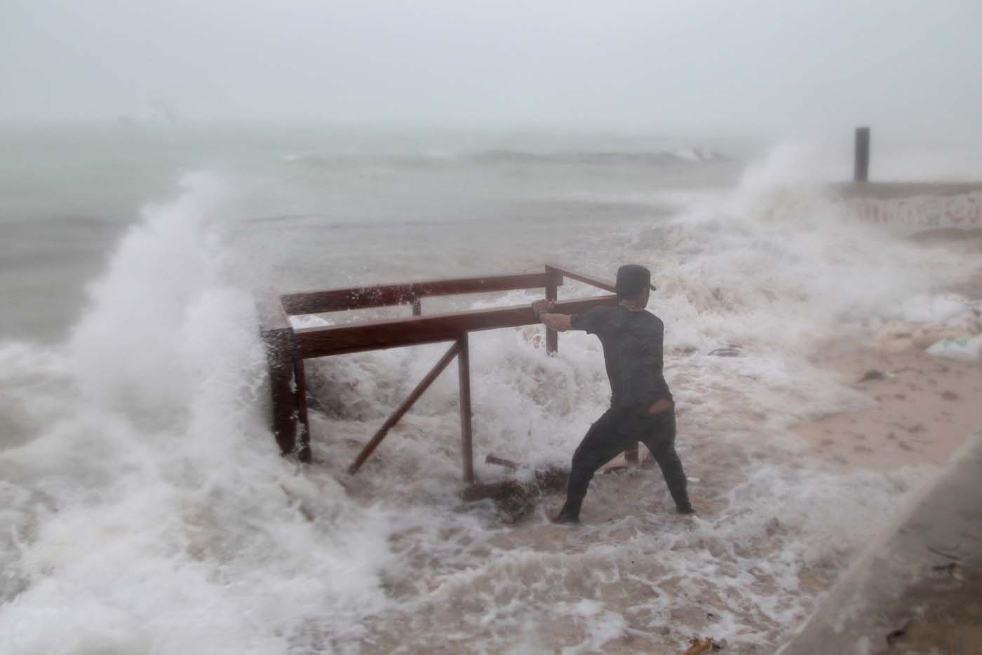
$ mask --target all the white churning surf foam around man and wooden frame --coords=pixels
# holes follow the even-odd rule
[[[682,458],[711,508],[669,516],[657,475],[634,470],[597,478],[579,530],[549,524],[557,498],[519,527],[459,503],[452,373],[344,472],[441,346],[309,362],[320,462],[280,459],[256,251],[230,246],[247,243],[223,218],[234,186],[187,178],[121,242],[66,344],[0,349],[0,652],[586,653],[696,627],[774,644],[924,474],[794,462],[789,424],[863,402],[816,344],[965,270],[856,225],[794,167],[779,152],[734,193],[563,246],[593,272],[654,265]],[[596,340],[566,335],[557,357],[539,328],[471,340],[478,474],[501,475],[488,453],[566,463],[607,402]],[[742,356],[708,355],[733,343]]]

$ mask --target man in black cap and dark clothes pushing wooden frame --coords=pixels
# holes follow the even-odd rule
[[[675,450],[675,403],[662,374],[665,325],[644,307],[651,272],[627,264],[617,272],[616,307],[594,307],[581,314],[551,313],[552,303],[536,300],[539,319],[559,332],[585,330],[600,338],[611,383],[611,408],[586,432],[573,454],[566,504],[557,521],[579,522],[579,509],[593,474],[628,447],[642,442],[662,469],[681,514],[692,514],[682,461]]]

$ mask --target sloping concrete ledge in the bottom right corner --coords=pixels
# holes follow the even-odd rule
[[[902,510],[779,655],[982,653],[982,431]]]

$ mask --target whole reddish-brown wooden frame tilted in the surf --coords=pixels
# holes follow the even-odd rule
[[[376,431],[349,466],[355,473],[378,448],[389,430],[406,414],[439,374],[456,357],[460,372],[461,439],[464,481],[474,481],[470,409],[470,365],[468,334],[479,330],[533,325],[539,322],[529,305],[473,309],[422,315],[424,298],[518,289],[544,289],[547,300],[556,301],[556,311],[578,313],[595,306],[617,304],[617,297],[595,296],[578,300],[558,300],[565,277],[613,291],[606,280],[546,265],[541,273],[518,273],[475,278],[458,278],[374,285],[351,289],[332,289],[292,294],[265,290],[257,295],[259,331],[266,347],[272,399],[272,428],[284,455],[296,453],[300,462],[311,460],[310,427],[306,407],[306,378],[303,360],[313,357],[362,353],[387,348],[453,342],[432,370],[409,397]],[[412,316],[360,321],[345,325],[295,329],[290,316],[350,309],[408,304]],[[556,353],[558,334],[546,330],[546,350]]]

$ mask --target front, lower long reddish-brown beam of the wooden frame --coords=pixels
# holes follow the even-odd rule
[[[575,314],[600,305],[616,305],[617,302],[616,296],[594,296],[557,302],[555,310]],[[310,358],[454,341],[464,332],[534,325],[538,322],[539,319],[530,305],[518,304],[495,309],[305,328],[296,332],[300,356]]]

